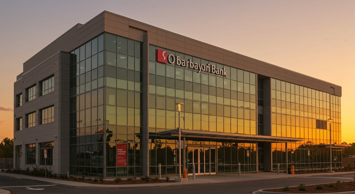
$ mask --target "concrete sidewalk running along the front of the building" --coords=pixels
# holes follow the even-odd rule
[[[314,175],[334,175],[334,174],[354,174],[354,172],[334,172],[334,173],[314,173],[314,174],[285,174],[285,173],[250,173],[250,174],[213,174],[213,175],[196,175],[196,180],[192,180],[192,176],[188,176],[188,182],[174,182],[174,183],[149,183],[149,184],[127,184],[127,185],[104,185],[104,184],[91,184],[81,183],[75,181],[50,179],[42,177],[32,177],[23,174],[10,174],[1,173],[0,176],[12,177],[17,179],[37,180],[43,183],[60,185],[63,187],[73,188],[89,188],[89,189],[115,189],[122,187],[172,187],[179,185],[191,185],[191,184],[209,184],[209,183],[228,183],[228,182],[241,182],[250,180],[262,180],[262,179],[274,179],[274,178],[287,178],[287,177],[310,177]],[[177,176],[170,177],[170,180],[174,180]],[[164,177],[162,178],[164,179]]]

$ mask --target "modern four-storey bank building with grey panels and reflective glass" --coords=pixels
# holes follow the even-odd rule
[[[160,163],[163,175],[178,174],[180,120],[189,174],[193,164],[197,174],[236,173],[238,163],[242,172],[339,167],[341,95],[338,85],[104,11],[24,62],[15,166],[119,177],[156,175]]]

